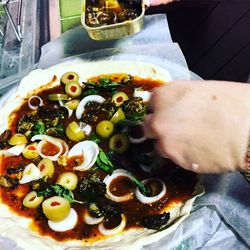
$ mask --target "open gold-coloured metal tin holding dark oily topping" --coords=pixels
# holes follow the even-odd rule
[[[83,0],[82,25],[94,40],[111,40],[139,32],[144,23],[141,0]]]

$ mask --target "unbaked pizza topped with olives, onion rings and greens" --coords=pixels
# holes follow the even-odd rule
[[[71,61],[26,76],[0,110],[0,235],[21,249],[138,249],[176,229],[198,176],[143,135],[152,64]]]

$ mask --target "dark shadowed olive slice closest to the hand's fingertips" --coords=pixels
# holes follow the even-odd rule
[[[123,154],[127,151],[129,140],[124,134],[115,134],[109,140],[109,148],[118,154]]]

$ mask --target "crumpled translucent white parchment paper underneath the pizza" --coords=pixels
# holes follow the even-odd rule
[[[165,15],[146,17],[142,32],[116,41],[93,41],[77,27],[46,44],[38,66],[79,58],[146,61],[166,68],[173,79],[200,79],[189,72],[172,42]],[[198,198],[191,216],[175,232],[142,249],[250,249],[250,185],[238,173],[205,175],[202,184],[206,194]],[[18,248],[0,238],[0,249]]]

